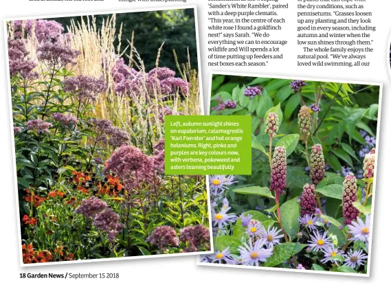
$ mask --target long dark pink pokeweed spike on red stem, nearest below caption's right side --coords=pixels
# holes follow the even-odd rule
[[[287,151],[283,146],[274,150],[271,164],[270,190],[278,194],[284,193],[287,185]]]

